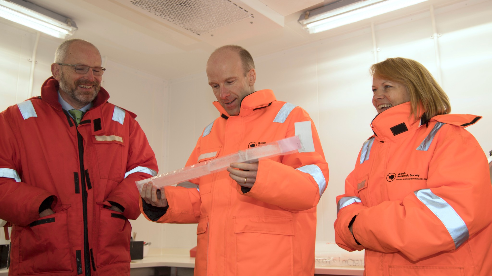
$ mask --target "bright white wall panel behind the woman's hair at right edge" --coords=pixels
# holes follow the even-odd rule
[[[488,153],[492,150],[492,1],[438,14],[436,23],[442,32],[443,88],[451,111],[483,116],[466,129]]]

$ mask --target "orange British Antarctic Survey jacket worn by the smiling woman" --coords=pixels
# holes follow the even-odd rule
[[[491,276],[489,167],[464,129],[481,117],[437,115],[421,125],[409,115],[408,102],[372,121],[375,136],[337,197],[337,244],[366,248],[367,276]]]

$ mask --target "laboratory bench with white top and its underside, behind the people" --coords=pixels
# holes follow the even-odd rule
[[[130,263],[131,276],[193,276],[195,258],[189,256],[186,248],[150,248],[142,260]],[[315,276],[362,276],[363,267],[316,266]],[[0,276],[7,276],[7,270],[0,270]]]

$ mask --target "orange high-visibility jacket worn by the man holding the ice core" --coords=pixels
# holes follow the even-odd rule
[[[311,118],[277,101],[272,90],[246,96],[237,116],[214,105],[221,115],[205,128],[186,166],[300,132],[312,140],[303,140],[306,152],[261,160],[249,192],[221,171],[192,180],[199,191],[166,187],[165,215],[142,212],[161,223],[198,223],[195,276],[312,276],[316,204],[328,164]]]

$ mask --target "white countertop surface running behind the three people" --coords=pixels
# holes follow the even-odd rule
[[[195,267],[195,258],[189,256],[189,249],[186,248],[150,248],[149,254],[142,260],[134,260],[130,263],[130,268],[145,267]],[[328,267],[316,266],[315,274],[332,274],[347,276],[364,275],[363,267]],[[0,276],[8,275],[7,270],[0,270]]]

